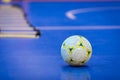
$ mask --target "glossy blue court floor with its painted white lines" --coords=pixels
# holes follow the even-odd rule
[[[42,35],[0,38],[0,80],[120,80],[120,2],[33,2],[26,12]],[[85,66],[70,67],[61,57],[71,35],[91,42]]]

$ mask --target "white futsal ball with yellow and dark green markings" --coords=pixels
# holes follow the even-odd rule
[[[61,56],[71,66],[84,65],[91,57],[92,46],[83,36],[68,37],[61,46]]]

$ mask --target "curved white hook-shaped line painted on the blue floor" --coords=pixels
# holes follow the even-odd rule
[[[103,11],[103,10],[116,10],[120,9],[120,7],[97,7],[97,8],[82,8],[82,9],[75,9],[75,10],[70,10],[65,13],[65,15],[72,20],[76,19],[75,14],[80,14],[80,13],[87,13],[87,12],[93,12],[93,11]]]

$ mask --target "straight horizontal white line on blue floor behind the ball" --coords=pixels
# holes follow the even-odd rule
[[[120,29],[120,26],[40,26],[39,30],[110,30]]]

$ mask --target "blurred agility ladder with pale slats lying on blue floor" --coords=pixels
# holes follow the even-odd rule
[[[0,37],[39,38],[40,31],[28,23],[20,7],[0,5]]]

